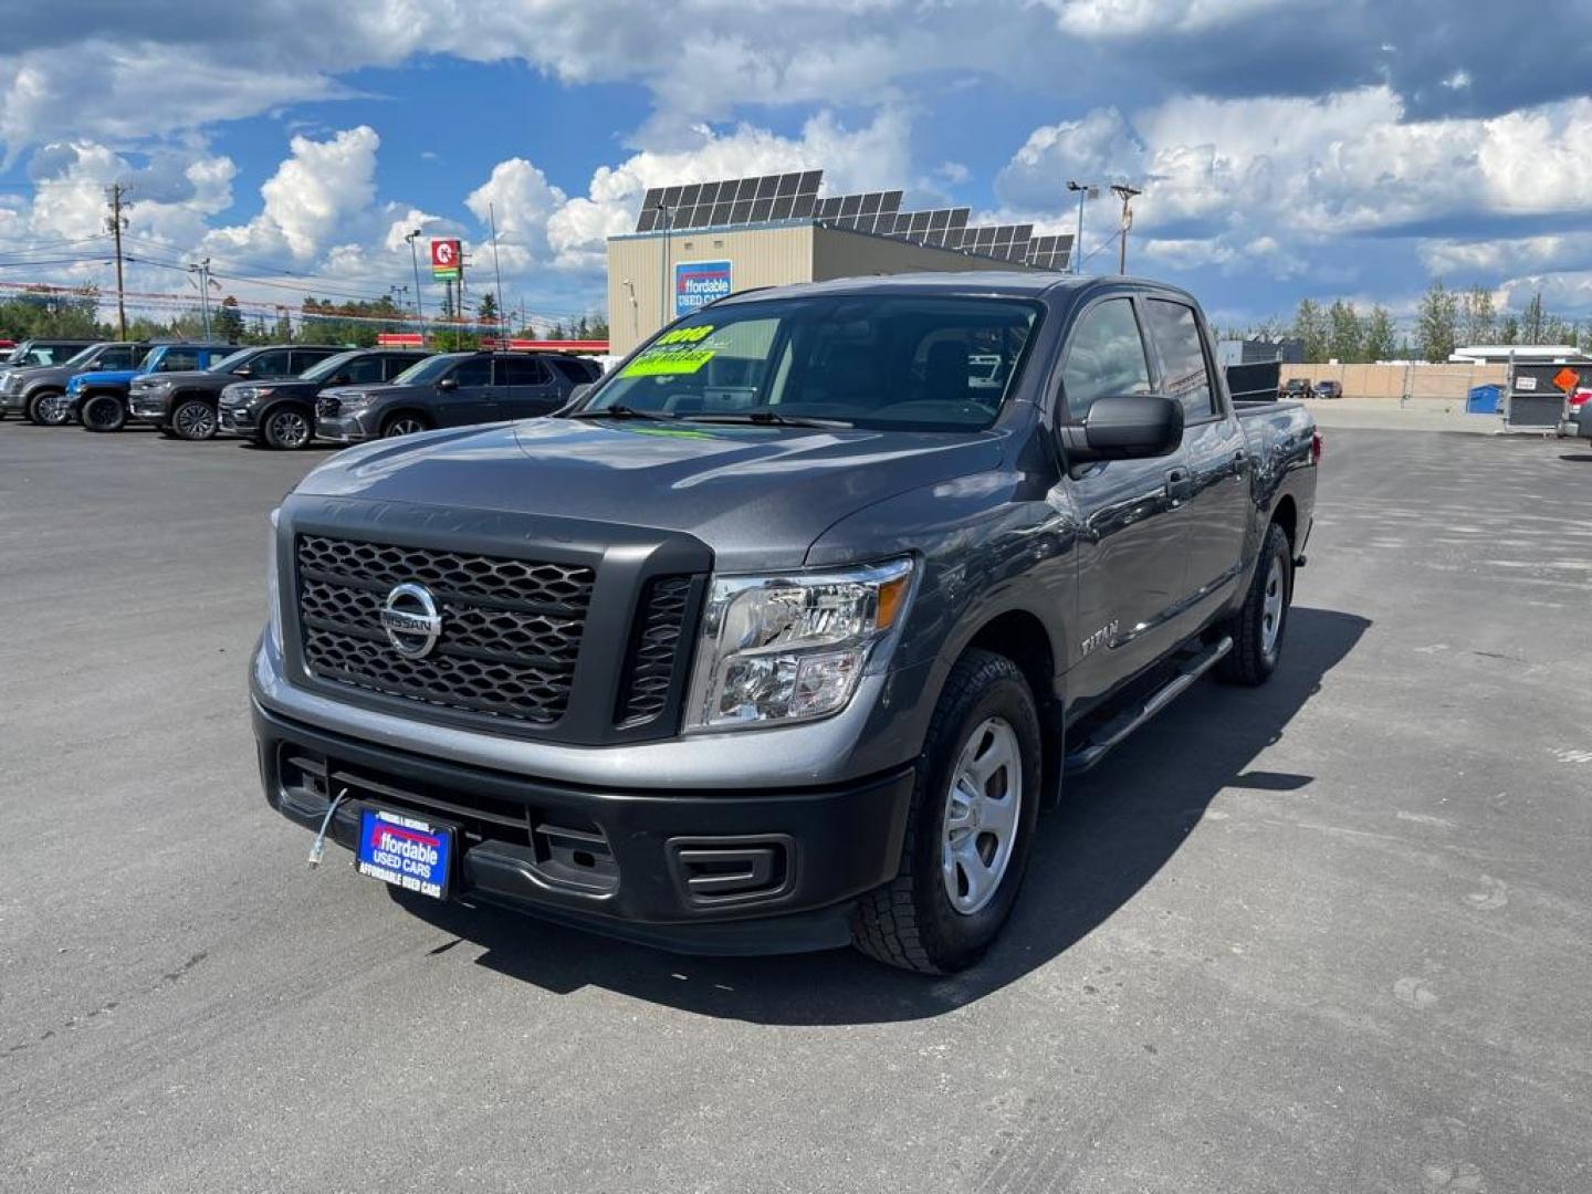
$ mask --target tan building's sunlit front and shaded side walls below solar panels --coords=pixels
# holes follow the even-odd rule
[[[1022,269],[1006,261],[817,224],[613,237],[608,240],[610,352],[629,352],[673,318],[669,288],[681,261],[729,261],[737,291],[874,274]],[[662,314],[667,318],[661,318]]]

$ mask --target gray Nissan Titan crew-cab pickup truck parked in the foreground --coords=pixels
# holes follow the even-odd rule
[[[272,517],[266,799],[404,899],[968,966],[1068,774],[1278,665],[1320,438],[1212,349],[1154,282],[786,287],[342,452]]]

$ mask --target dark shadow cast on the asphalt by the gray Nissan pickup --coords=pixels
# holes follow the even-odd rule
[[[1250,771],[1364,635],[1364,618],[1290,613],[1288,653],[1264,688],[1196,685],[1040,818],[1024,892],[1005,935],[973,970],[935,979],[842,949],[755,958],[665,954],[492,907],[403,901],[484,952],[478,965],[552,993],[599,987],[700,1016],[753,1024],[914,1020],[955,1011],[1020,979],[1094,931],[1188,841],[1223,788],[1294,791],[1312,775]],[[1169,767],[1167,759],[1176,766]]]

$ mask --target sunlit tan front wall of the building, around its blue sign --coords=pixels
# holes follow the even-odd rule
[[[608,342],[622,355],[673,318],[669,287],[681,261],[731,261],[736,290],[812,282],[812,224],[739,232],[675,232],[608,242]],[[667,263],[665,263],[667,248]]]

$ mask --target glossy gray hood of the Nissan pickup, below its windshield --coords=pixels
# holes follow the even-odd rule
[[[315,497],[549,514],[694,535],[724,570],[790,568],[836,521],[1000,465],[1005,435],[532,419],[342,452]]]

